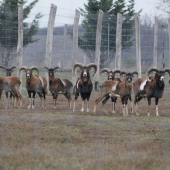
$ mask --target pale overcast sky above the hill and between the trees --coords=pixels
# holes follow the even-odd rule
[[[32,2],[33,0],[28,0],[28,3]],[[126,0],[128,2],[128,0]],[[143,9],[142,14],[148,14],[149,16],[157,15],[157,11],[154,8],[155,1],[157,0],[135,0],[135,10],[139,11],[141,8]],[[36,5],[36,8],[32,10],[32,17],[37,12],[42,12],[44,14],[43,22],[44,26],[47,25],[48,22],[48,15],[50,11],[51,3],[55,4],[57,9],[56,20],[61,25],[63,23],[71,24],[73,23],[74,17],[74,10],[79,7],[84,8],[84,3],[87,3],[87,0],[39,0]],[[60,15],[60,16],[59,16]],[[67,17],[64,17],[67,16]],[[68,18],[70,16],[70,18]],[[42,24],[41,24],[42,25]],[[56,25],[56,24],[55,24]]]

